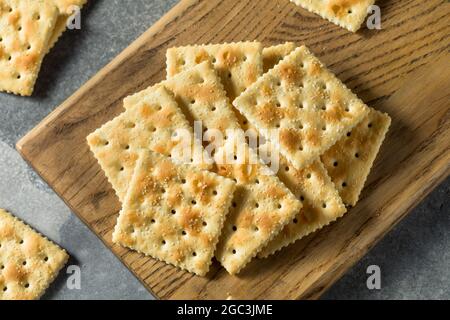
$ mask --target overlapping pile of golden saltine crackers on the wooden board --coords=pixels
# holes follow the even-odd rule
[[[124,108],[87,138],[122,203],[112,240],[200,276],[342,217],[390,125],[294,43],[171,48],[167,80]]]

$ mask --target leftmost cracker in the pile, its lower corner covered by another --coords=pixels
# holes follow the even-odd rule
[[[192,141],[193,163],[208,169],[208,159],[202,145],[194,139],[192,128],[174,97],[162,86],[148,90],[133,103],[133,107],[103,125],[87,138],[89,147],[120,201],[125,199],[141,149],[150,149],[172,156],[183,141],[176,136],[184,129]],[[181,145],[180,145],[181,146]],[[181,162],[191,161],[177,152]]]

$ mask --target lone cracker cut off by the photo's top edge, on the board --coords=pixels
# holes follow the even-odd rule
[[[375,0],[291,0],[298,6],[318,14],[338,26],[356,32]]]

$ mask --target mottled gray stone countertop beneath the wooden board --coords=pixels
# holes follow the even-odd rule
[[[54,240],[81,270],[69,289],[63,270],[45,299],[152,299],[124,265],[65,206],[14,149],[36,126],[176,0],[96,0],[82,11],[82,29],[66,32],[46,57],[32,98],[0,93],[0,208]],[[324,299],[449,299],[450,179],[444,181]],[[381,289],[366,285],[368,266],[381,270]]]

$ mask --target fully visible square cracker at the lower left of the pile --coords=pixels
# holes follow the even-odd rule
[[[113,241],[204,276],[235,188],[230,179],[143,151]]]

